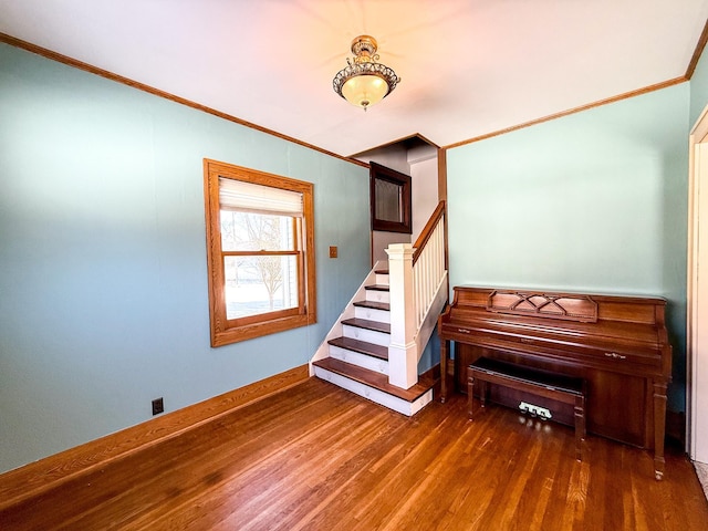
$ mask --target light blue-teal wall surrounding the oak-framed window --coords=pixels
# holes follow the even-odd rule
[[[317,324],[209,346],[204,158],[314,183]],[[366,168],[0,44],[0,471],[305,364],[369,257]]]

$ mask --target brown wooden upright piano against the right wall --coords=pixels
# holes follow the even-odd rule
[[[481,356],[582,377],[587,430],[653,448],[655,476],[662,479],[671,378],[665,309],[666,301],[658,298],[457,287],[438,321],[440,399],[448,397],[450,376],[465,392],[466,367]],[[501,388],[491,395],[512,407],[519,398]],[[540,405],[553,408],[560,421],[572,423],[572,412],[561,405]]]

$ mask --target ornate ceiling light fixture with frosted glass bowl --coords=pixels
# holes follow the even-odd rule
[[[364,108],[381,102],[400,82],[396,73],[378,63],[376,39],[360,35],[352,41],[353,59],[346,59],[347,66],[340,70],[332,85],[344,100]]]

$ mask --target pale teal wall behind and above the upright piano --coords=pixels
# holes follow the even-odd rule
[[[448,150],[451,285],[668,299],[685,410],[689,85]]]

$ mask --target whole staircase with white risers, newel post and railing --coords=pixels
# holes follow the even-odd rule
[[[412,416],[433,402],[418,361],[447,303],[445,202],[415,246],[377,262],[310,361],[310,374]]]

